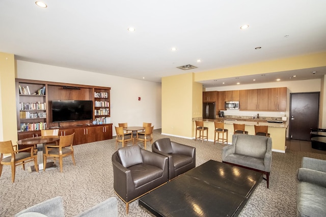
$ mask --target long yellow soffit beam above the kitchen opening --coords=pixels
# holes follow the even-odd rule
[[[326,52],[200,72],[195,74],[195,81],[230,78],[244,75],[266,74],[323,66],[326,66]]]

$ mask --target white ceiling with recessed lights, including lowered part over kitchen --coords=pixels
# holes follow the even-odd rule
[[[43,2],[47,8],[35,0],[0,1],[0,52],[40,64],[160,82],[165,76],[326,51],[324,0]],[[249,28],[240,29],[243,24]],[[128,32],[129,27],[135,31]],[[177,68],[184,65],[197,68]],[[312,79],[326,69],[223,81],[266,82],[290,79],[293,73],[295,79]],[[221,83],[203,81],[207,87]]]

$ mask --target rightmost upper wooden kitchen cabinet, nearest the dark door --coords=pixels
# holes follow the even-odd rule
[[[286,87],[268,89],[268,110],[286,111]]]

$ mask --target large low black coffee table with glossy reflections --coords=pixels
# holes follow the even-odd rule
[[[237,216],[263,174],[210,160],[139,199],[156,216]]]

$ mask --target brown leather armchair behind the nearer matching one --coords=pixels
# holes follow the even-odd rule
[[[163,138],[152,144],[152,151],[169,158],[169,180],[196,167],[195,147]]]

